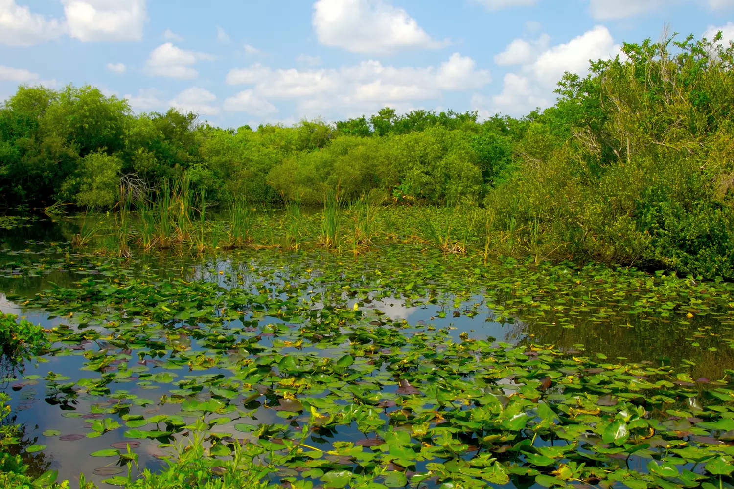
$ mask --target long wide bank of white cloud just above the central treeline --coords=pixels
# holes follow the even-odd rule
[[[315,117],[333,109],[369,111],[436,99],[446,91],[484,87],[491,77],[487,70],[477,69],[470,57],[454,53],[440,65],[429,67],[393,67],[368,60],[338,69],[272,70],[255,63],[231,70],[225,81],[252,85],[249,92],[238,94],[244,103],[295,100],[302,114]]]

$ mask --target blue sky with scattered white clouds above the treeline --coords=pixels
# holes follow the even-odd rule
[[[0,0],[0,100],[91,84],[222,127],[389,106],[519,117],[665,29],[734,40],[734,0]]]

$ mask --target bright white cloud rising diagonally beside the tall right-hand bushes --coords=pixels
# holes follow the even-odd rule
[[[504,64],[522,59],[515,62],[520,67],[517,72],[504,76],[502,91],[493,96],[491,109],[517,115],[551,106],[555,100],[553,89],[565,72],[583,76],[588,73],[589,59],[608,59],[618,53],[619,45],[603,26],[552,47],[548,47],[545,36],[524,44],[515,40],[506,51],[498,54],[498,59]]]

